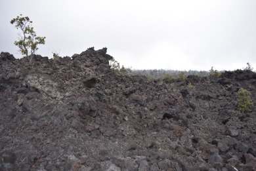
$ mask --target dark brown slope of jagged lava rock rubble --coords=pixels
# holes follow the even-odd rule
[[[256,170],[256,74],[175,86],[117,75],[106,48],[0,57],[0,170]]]

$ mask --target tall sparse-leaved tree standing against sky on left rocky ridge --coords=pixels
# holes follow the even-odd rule
[[[22,14],[13,18],[11,24],[15,24],[16,29],[21,29],[22,33],[18,34],[18,41],[14,42],[14,45],[20,48],[21,54],[26,54],[26,57],[30,55],[30,61],[33,54],[38,50],[37,45],[45,45],[45,37],[37,37],[35,31],[32,28],[32,21],[28,16],[23,17]]]

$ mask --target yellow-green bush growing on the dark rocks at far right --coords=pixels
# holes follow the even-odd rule
[[[253,101],[251,100],[251,92],[240,88],[238,90],[238,111],[249,112],[253,108]]]

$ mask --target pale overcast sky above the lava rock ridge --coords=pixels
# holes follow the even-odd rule
[[[256,69],[255,0],[1,0],[0,51],[16,58],[18,30],[29,16],[37,54],[80,54],[89,47],[133,69]]]

